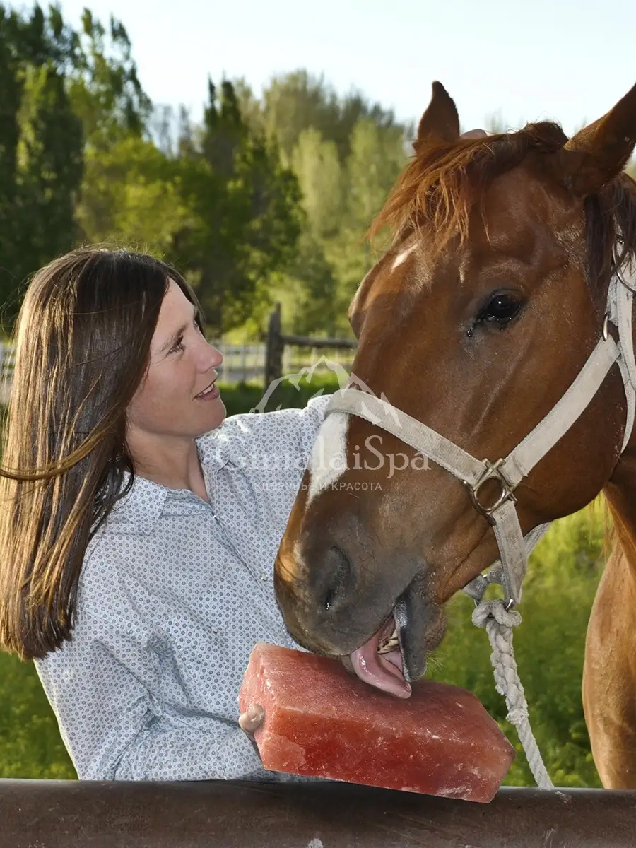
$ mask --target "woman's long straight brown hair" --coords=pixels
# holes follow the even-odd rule
[[[126,409],[170,279],[201,326],[181,274],[127,250],[65,254],[25,293],[0,468],[0,647],[23,659],[70,639],[86,546],[134,483]]]

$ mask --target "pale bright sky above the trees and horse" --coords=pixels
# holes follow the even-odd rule
[[[399,120],[419,120],[439,80],[463,129],[497,114],[505,129],[558,120],[568,135],[636,82],[633,0],[59,0],[125,25],[154,103],[198,120],[208,75],[306,68],[339,93],[357,89]]]

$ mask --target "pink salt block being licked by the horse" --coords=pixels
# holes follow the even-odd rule
[[[408,699],[373,689],[342,663],[259,642],[238,696],[265,708],[263,765],[466,801],[491,801],[515,750],[479,700],[418,681]]]

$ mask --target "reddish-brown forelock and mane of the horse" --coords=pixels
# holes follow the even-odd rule
[[[556,153],[567,141],[552,121],[528,124],[516,132],[456,142],[415,145],[416,155],[406,166],[377,219],[371,238],[389,226],[398,236],[427,226],[438,248],[450,237],[468,237],[473,206],[479,203],[496,176],[521,165],[529,153]],[[636,261],[636,183],[627,174],[609,181],[585,201],[587,273],[590,285],[606,291],[614,269],[612,248],[619,245],[618,264]]]

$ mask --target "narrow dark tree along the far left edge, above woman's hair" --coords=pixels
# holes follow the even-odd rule
[[[70,248],[82,173],[81,120],[64,66],[72,39],[55,9],[30,18],[0,7],[0,298],[10,326],[20,284]]]

